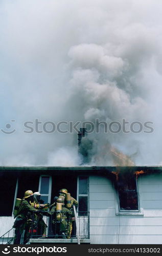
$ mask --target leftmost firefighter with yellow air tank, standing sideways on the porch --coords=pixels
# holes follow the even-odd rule
[[[25,191],[24,198],[21,200],[20,206],[17,211],[16,220],[13,228],[15,228],[13,244],[20,244],[22,232],[25,229],[24,244],[29,241],[29,228],[31,226],[31,214],[39,214],[39,210],[31,206],[33,202],[33,191]]]

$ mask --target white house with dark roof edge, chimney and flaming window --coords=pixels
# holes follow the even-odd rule
[[[83,153],[84,149],[87,161],[83,138],[84,131],[81,130],[79,151]],[[57,191],[66,187],[79,202],[76,224],[80,243],[160,244],[162,167],[135,166],[115,148],[112,147],[110,152],[119,164],[1,166],[1,243],[12,243],[14,203],[16,198],[24,197],[25,190],[39,191],[44,203],[52,204]],[[60,242],[52,236],[49,220],[47,222],[46,239],[31,238],[30,243]],[[75,227],[70,240],[61,240],[61,243],[67,242],[77,243]]]

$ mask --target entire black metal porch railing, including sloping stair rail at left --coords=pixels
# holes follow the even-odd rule
[[[40,212],[39,215],[33,214],[30,223],[25,223],[24,230],[18,234],[17,242],[14,240],[14,228],[11,228],[0,238],[0,244],[29,244],[30,239],[70,239],[77,238],[89,239],[89,212],[79,211],[77,214],[77,227],[75,217],[69,216],[68,213],[61,213],[60,218],[58,212]],[[72,229],[71,234],[68,230]],[[19,230],[18,230],[19,231]],[[16,234],[17,235],[17,234]]]

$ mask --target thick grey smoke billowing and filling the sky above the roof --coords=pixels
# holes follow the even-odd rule
[[[159,1],[7,0],[0,5],[1,128],[16,129],[0,131],[1,165],[113,165],[114,155],[129,156],[127,165],[161,164]],[[105,133],[100,125],[100,133],[82,140],[88,152],[84,162],[69,125],[60,126],[68,130],[64,134],[50,133],[50,124],[42,130],[48,121],[96,119],[107,124],[124,119],[127,131],[132,122],[150,121],[154,131]],[[27,121],[33,130],[24,127]]]

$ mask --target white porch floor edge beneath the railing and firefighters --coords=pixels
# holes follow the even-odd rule
[[[32,238],[29,241],[30,244],[77,244],[76,238],[71,239],[54,239],[54,238]],[[81,244],[90,244],[90,239],[80,239]]]

